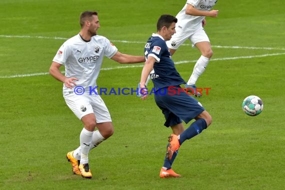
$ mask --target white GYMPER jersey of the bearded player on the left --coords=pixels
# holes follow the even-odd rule
[[[89,86],[97,86],[103,56],[111,58],[116,52],[117,48],[106,37],[94,35],[86,42],[78,33],[60,46],[52,61],[64,65],[65,76],[76,77],[78,80],[74,82],[84,87],[86,93]],[[63,84],[63,95],[72,92]]]

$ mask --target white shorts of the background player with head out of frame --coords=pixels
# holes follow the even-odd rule
[[[177,49],[186,39],[189,39],[192,43],[192,47],[197,42],[208,41],[210,42],[203,27],[199,27],[195,31],[184,32],[179,27],[176,27],[176,33],[174,33],[169,41],[166,41],[167,47],[170,49]]]

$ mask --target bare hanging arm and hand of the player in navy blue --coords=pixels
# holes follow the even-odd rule
[[[150,73],[150,71],[152,70],[153,68],[153,64],[155,62],[155,58],[152,57],[152,56],[148,56],[145,63],[144,63],[144,66],[142,68],[142,71],[141,71],[141,77],[140,77],[140,87],[139,89],[141,88],[145,88],[145,82],[146,82],[146,79]],[[145,90],[142,89],[142,94],[144,94]],[[147,97],[147,94],[144,94],[141,99],[145,99]]]

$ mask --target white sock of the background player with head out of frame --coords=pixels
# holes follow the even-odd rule
[[[204,70],[206,69],[208,63],[209,63],[210,59],[201,55],[200,58],[197,60],[193,72],[189,78],[189,80],[187,81],[187,84],[194,84],[196,83],[198,77],[204,72]]]

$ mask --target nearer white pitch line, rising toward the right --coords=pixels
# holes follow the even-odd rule
[[[242,59],[242,58],[256,58],[256,57],[275,56],[275,55],[284,55],[284,54],[285,54],[285,52],[284,53],[261,54],[261,55],[249,55],[249,56],[212,58],[211,61],[216,61],[216,60],[233,60],[233,59]],[[176,61],[175,64],[183,64],[183,63],[196,62],[196,61],[197,60],[181,60],[181,61]],[[143,67],[143,64],[116,66],[116,67],[106,67],[106,68],[101,68],[100,70],[114,70],[114,69],[121,69],[121,68],[136,68],[136,67]],[[17,78],[17,77],[38,76],[38,75],[47,75],[47,74],[49,74],[49,73],[48,72],[39,72],[39,73],[30,73],[30,74],[15,74],[15,75],[0,76],[0,78]]]

